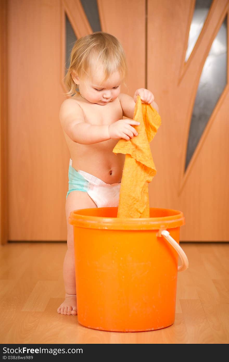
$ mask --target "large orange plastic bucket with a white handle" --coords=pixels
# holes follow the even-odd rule
[[[72,211],[78,321],[115,332],[174,323],[183,213],[150,208],[150,218],[117,218],[117,207]],[[182,265],[178,267],[178,254]]]

